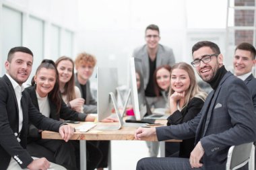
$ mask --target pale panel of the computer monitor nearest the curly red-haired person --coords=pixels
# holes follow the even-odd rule
[[[116,95],[117,82],[117,68],[97,68],[98,121],[111,115],[113,101],[110,97],[110,92]]]

